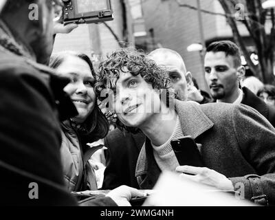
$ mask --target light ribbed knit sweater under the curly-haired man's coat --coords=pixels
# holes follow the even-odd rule
[[[153,146],[153,155],[160,170],[169,170],[175,172],[175,168],[179,166],[179,162],[177,162],[177,157],[175,156],[170,141],[175,138],[182,137],[183,135],[184,134],[181,130],[179,116],[177,116],[176,126],[170,138],[161,146],[155,146],[153,143],[151,143]]]

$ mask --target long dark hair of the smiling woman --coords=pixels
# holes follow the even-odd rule
[[[69,56],[76,56],[85,61],[91,69],[91,74],[96,79],[96,72],[94,71],[94,66],[91,63],[89,56],[87,56],[86,54],[81,54],[72,51],[58,52],[56,54],[52,54],[49,64],[50,67],[54,69],[58,68],[59,65],[61,65],[61,63],[65,61],[65,58]],[[94,142],[105,137],[109,131],[109,123],[107,121],[107,118],[105,118],[97,103],[95,104],[94,110],[91,112],[91,114],[88,116],[85,122],[83,122],[82,125],[86,128],[85,130],[87,131],[85,133],[80,132],[80,135],[83,135],[83,137],[89,136],[89,142]]]

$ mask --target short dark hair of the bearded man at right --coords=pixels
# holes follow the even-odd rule
[[[225,56],[232,56],[234,58],[235,67],[241,66],[241,51],[232,41],[216,41],[210,43],[206,48],[206,52],[224,52]]]

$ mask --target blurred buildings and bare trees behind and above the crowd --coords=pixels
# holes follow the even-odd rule
[[[263,83],[274,84],[274,0],[113,0],[114,20],[79,25],[58,34],[54,52],[76,50],[98,64],[118,47],[145,52],[168,47],[181,54],[205,91],[203,56],[213,41],[241,47],[243,65]]]

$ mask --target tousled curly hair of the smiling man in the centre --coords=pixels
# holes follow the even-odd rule
[[[146,83],[151,84],[153,89],[167,89],[166,100],[170,100],[170,78],[168,73],[162,67],[157,66],[155,61],[151,60],[141,51],[137,51],[132,47],[120,48],[116,50],[110,56],[107,56],[107,60],[100,63],[98,67],[97,82],[95,85],[95,91],[100,100],[104,100],[100,97],[100,93],[103,89],[111,89],[115,92],[116,82],[120,78],[120,72],[129,72],[133,76],[142,76]],[[173,94],[175,97],[175,94]],[[168,105],[168,102],[166,102]],[[115,117],[114,113],[109,112],[109,117]],[[137,129],[124,126],[118,118],[116,118],[116,124],[120,129],[126,129],[136,133]]]

